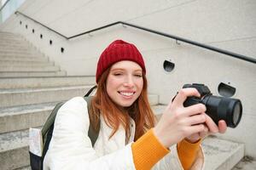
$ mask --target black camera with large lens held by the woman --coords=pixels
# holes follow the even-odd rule
[[[211,91],[204,84],[185,84],[183,88],[196,88],[201,94],[201,98],[188,97],[183,103],[184,107],[195,104],[207,106],[207,115],[218,125],[218,121],[224,120],[228,127],[236,127],[241,120],[241,101],[240,99],[230,99],[212,95]]]

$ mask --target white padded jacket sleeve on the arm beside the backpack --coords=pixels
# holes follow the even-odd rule
[[[44,157],[44,169],[135,169],[131,144],[109,155],[97,156],[88,137],[89,125],[87,103],[82,97],[62,105]]]

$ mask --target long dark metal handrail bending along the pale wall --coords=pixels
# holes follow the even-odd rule
[[[19,11],[16,11],[15,14],[21,14],[23,16],[25,16],[26,18],[30,19],[30,20],[33,20],[32,18],[30,18],[29,16],[26,16],[26,14],[22,14],[20,13]],[[41,26],[44,26],[42,23],[38,22],[37,20],[33,20],[34,22],[38,23],[39,25]],[[57,32],[57,31],[54,31],[53,29],[49,28],[48,26],[44,26],[46,27],[47,29],[49,29],[50,31],[54,31],[56,34],[60,35],[61,37],[64,37],[66,38],[67,40],[70,40],[74,37],[80,37],[80,36],[83,36],[85,34],[89,34],[91,32],[94,32],[94,31],[99,31],[99,30],[102,30],[102,29],[105,29],[105,28],[108,28],[110,26],[115,26],[115,25],[118,25],[118,24],[122,24],[124,26],[131,26],[133,28],[137,28],[139,30],[143,30],[143,31],[148,31],[148,32],[151,32],[151,33],[154,33],[154,34],[157,34],[157,35],[160,35],[160,36],[163,36],[163,37],[169,37],[169,38],[172,38],[172,39],[175,39],[177,41],[180,41],[180,42],[186,42],[186,43],[189,43],[191,45],[195,45],[197,47],[200,47],[200,48],[207,48],[209,50],[212,50],[212,51],[215,51],[217,53],[220,53],[220,54],[226,54],[226,55],[230,55],[231,57],[234,57],[236,59],[243,59],[243,60],[246,60],[248,62],[251,62],[251,63],[254,63],[256,64],[256,59],[254,59],[253,57],[247,57],[245,55],[242,55],[242,54],[236,54],[236,53],[233,53],[233,52],[230,52],[230,51],[227,51],[227,50],[224,50],[224,49],[221,49],[221,48],[215,48],[215,47],[212,47],[212,46],[209,46],[209,45],[206,45],[206,44],[203,44],[203,43],[200,43],[200,42],[194,42],[194,41],[191,41],[189,39],[186,39],[186,38],[183,38],[183,37],[177,37],[177,36],[173,36],[171,34],[166,34],[164,32],[160,32],[160,31],[154,31],[152,29],[148,29],[148,28],[145,28],[143,26],[136,26],[136,25],[132,25],[130,23],[127,23],[127,22],[123,22],[123,21],[117,21],[117,22],[114,22],[112,24],[108,24],[106,26],[101,26],[101,27],[98,27],[96,29],[93,29],[93,30],[90,30],[90,31],[84,31],[82,33],[79,33],[75,36],[72,36],[72,37],[66,37],[64,35],[62,35],[61,33]]]

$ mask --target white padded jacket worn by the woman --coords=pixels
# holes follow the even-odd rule
[[[55,118],[55,128],[44,157],[44,170],[65,169],[136,169],[131,151],[135,134],[135,122],[131,119],[131,140],[125,144],[125,129],[119,127],[117,133],[108,139],[112,129],[101,118],[101,129],[94,148],[88,137],[90,120],[87,103],[82,97],[68,100],[61,106]],[[194,167],[201,169],[202,152]],[[176,146],[161,159],[154,169],[183,169],[177,157]]]

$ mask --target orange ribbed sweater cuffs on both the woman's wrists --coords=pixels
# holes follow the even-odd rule
[[[177,144],[177,154],[185,170],[189,169],[195,161],[200,144],[201,140],[195,144],[191,144],[184,139]],[[140,139],[137,139],[135,143],[131,144],[131,150],[137,170],[151,169],[156,162],[160,161],[161,158],[170,152],[154,136],[153,129],[150,129]]]

